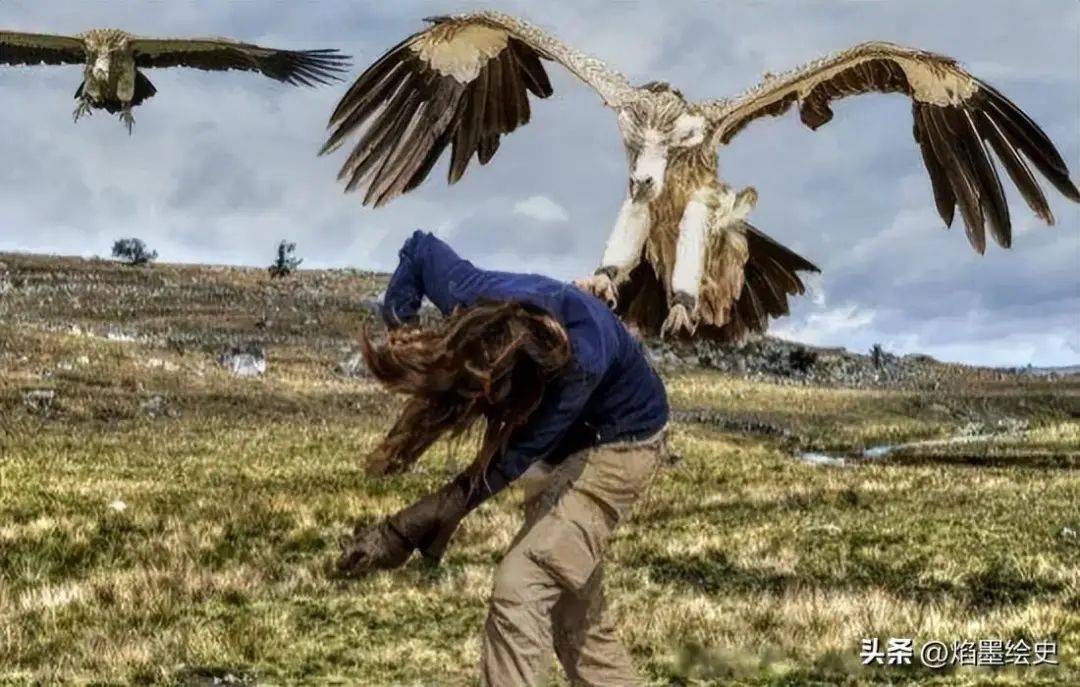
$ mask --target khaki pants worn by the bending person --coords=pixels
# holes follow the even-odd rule
[[[525,525],[495,572],[481,671],[490,687],[536,685],[555,649],[573,685],[637,685],[605,617],[603,557],[665,456],[663,432],[529,470]],[[530,480],[531,477],[531,480]]]

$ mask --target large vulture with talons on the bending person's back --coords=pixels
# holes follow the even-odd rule
[[[804,292],[811,262],[746,221],[757,192],[717,176],[717,148],[752,121],[798,110],[818,129],[833,100],[900,93],[912,100],[914,135],[946,225],[959,206],[978,253],[986,232],[1002,247],[1011,220],[996,157],[1031,211],[1053,224],[1036,173],[1080,201],[1054,145],[1030,117],[954,59],[885,42],[856,45],[779,76],[733,98],[691,103],[663,82],[631,85],[620,73],[539,28],[504,14],[436,17],[382,55],[330,118],[323,152],[360,138],[341,167],[347,190],[381,205],[420,185],[449,148],[449,181],[473,156],[486,164],[501,137],[529,121],[529,94],[552,86],[557,62],[618,113],[629,190],[600,267],[578,285],[605,298],[647,334],[720,340],[761,332]]]

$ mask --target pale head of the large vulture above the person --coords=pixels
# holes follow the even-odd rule
[[[660,197],[673,149],[692,148],[705,140],[705,117],[664,81],[637,90],[619,109],[619,131],[630,162],[630,196],[635,202]]]

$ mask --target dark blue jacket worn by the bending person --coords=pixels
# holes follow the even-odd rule
[[[589,445],[646,439],[666,425],[663,382],[640,344],[600,299],[540,274],[478,269],[419,230],[399,255],[382,304],[390,326],[413,321],[427,296],[444,315],[483,300],[529,304],[569,335],[570,367],[549,385],[529,421],[492,460],[508,482],[538,460],[558,462]]]

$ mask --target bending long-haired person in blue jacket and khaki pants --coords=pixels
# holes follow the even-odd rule
[[[472,466],[438,491],[357,527],[346,574],[438,560],[464,515],[514,481],[525,524],[495,574],[485,624],[486,684],[534,685],[555,654],[573,684],[637,677],[605,617],[603,557],[661,464],[667,399],[636,341],[596,297],[536,274],[481,270],[430,233],[405,242],[383,300],[388,344],[364,340],[372,373],[410,396],[368,458],[401,471],[440,435],[481,417]],[[427,297],[447,320],[416,322]]]

